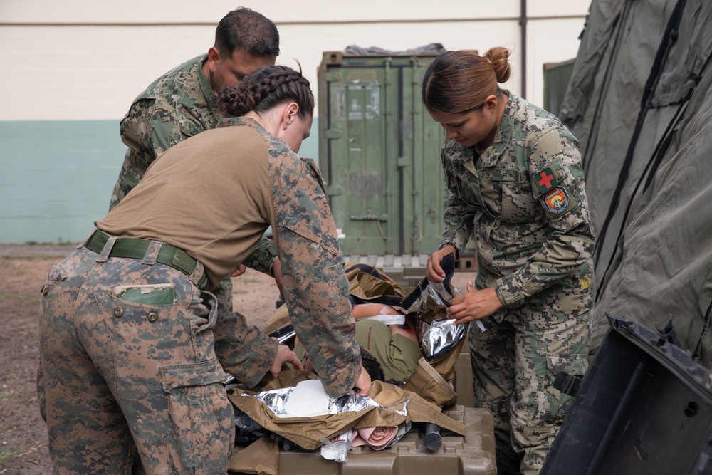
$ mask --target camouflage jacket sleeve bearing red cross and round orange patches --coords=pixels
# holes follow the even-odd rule
[[[548,238],[524,266],[496,281],[497,295],[508,308],[517,308],[525,298],[592,266],[595,240],[574,138],[565,130],[550,130],[531,146],[529,168]],[[548,190],[538,185],[543,173],[556,180],[548,182]]]

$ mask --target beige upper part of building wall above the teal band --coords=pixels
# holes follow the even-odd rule
[[[159,75],[207,51],[219,19],[249,6],[275,21],[278,63],[312,82],[323,51],[511,48],[506,84],[543,103],[543,64],[577,54],[590,0],[0,0],[0,120],[117,120]],[[523,53],[526,58],[523,78]]]

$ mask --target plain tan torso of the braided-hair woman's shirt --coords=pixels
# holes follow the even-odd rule
[[[169,160],[155,160],[95,225],[112,236],[183,249],[203,263],[212,288],[244,261],[273,221],[267,147],[252,127],[221,127],[169,152]]]

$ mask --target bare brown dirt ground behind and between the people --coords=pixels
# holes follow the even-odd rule
[[[47,431],[35,390],[37,315],[40,289],[49,268],[73,249],[0,244],[0,474],[51,473]],[[453,284],[464,291],[473,276],[457,272]],[[261,326],[279,297],[273,279],[248,269],[234,278],[233,284],[235,310]]]

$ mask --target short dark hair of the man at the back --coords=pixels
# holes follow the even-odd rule
[[[220,20],[215,47],[226,57],[244,51],[257,58],[274,59],[279,56],[279,32],[266,16],[241,6]]]

